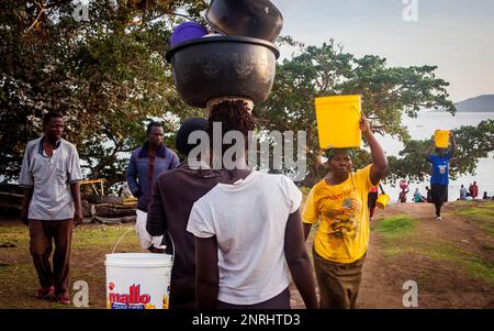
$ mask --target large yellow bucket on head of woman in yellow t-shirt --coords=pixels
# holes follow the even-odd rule
[[[360,147],[360,96],[315,98],[319,147]]]

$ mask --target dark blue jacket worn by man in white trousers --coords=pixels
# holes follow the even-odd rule
[[[131,192],[138,198],[137,209],[147,211],[153,185],[161,172],[175,169],[179,165],[177,154],[167,148],[165,145],[159,145],[156,150],[155,168],[149,181],[149,143],[146,142],[142,147],[132,152],[131,162],[125,172],[125,179],[127,180]]]

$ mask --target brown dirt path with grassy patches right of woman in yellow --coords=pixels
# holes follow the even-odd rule
[[[441,221],[435,220],[428,203],[392,205],[377,212],[372,228],[384,218],[408,216],[416,220],[416,230],[395,247],[371,231],[359,308],[404,308],[407,280],[417,284],[418,308],[494,308],[494,283],[482,279],[493,274],[494,236],[475,221],[456,216],[456,208],[447,203]],[[386,256],[393,250],[400,254]],[[304,307],[296,291],[293,304]]]

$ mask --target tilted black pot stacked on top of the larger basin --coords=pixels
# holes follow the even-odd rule
[[[283,16],[269,0],[212,0],[204,18],[226,35],[258,37],[271,43],[283,27]]]

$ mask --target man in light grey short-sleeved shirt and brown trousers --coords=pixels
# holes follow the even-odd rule
[[[82,175],[76,147],[61,139],[64,128],[60,114],[45,114],[44,135],[26,145],[19,186],[24,188],[21,220],[30,228],[30,252],[41,285],[36,298],[54,296],[69,305],[70,246],[74,224],[82,222]]]

